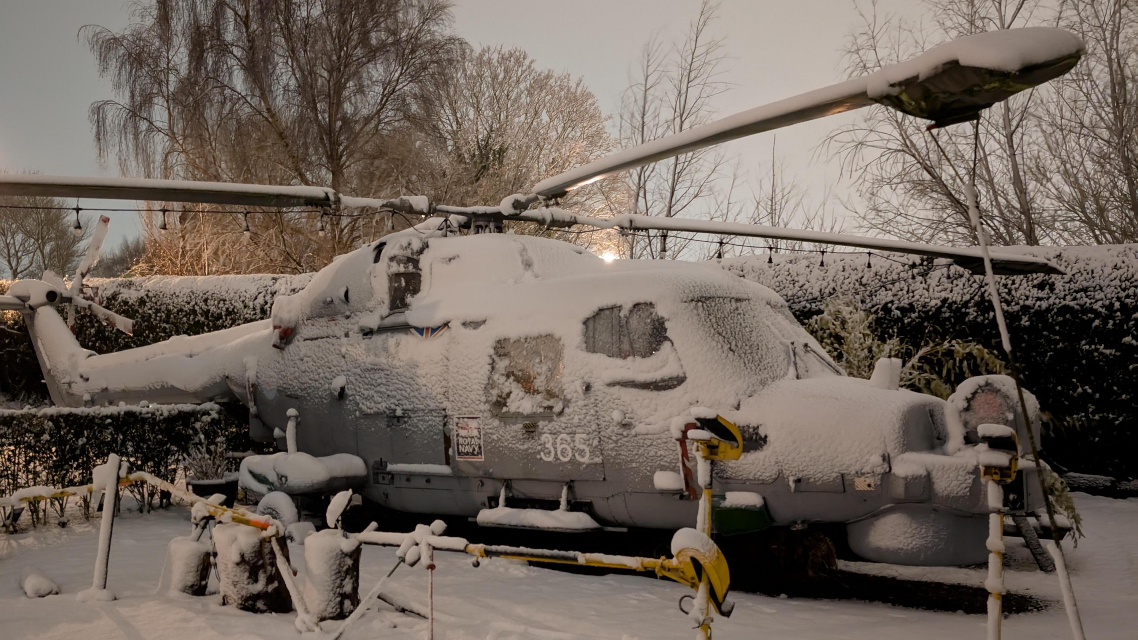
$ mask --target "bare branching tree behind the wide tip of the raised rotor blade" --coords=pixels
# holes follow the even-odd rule
[[[933,44],[971,33],[1045,24],[1052,18],[1028,0],[931,0],[930,20],[880,18],[859,8],[861,28],[846,50],[851,76],[872,73]],[[1048,23],[1049,24],[1049,23]],[[1061,239],[1024,164],[1037,138],[1040,91],[1005,101],[973,125],[935,132],[885,107],[834,132],[830,149],[858,180],[855,205],[865,227],[906,239],[972,244],[963,200],[975,172],[986,227],[998,244]],[[1046,93],[1046,91],[1044,92]]]

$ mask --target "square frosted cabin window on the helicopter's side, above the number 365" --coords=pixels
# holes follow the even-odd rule
[[[489,401],[500,415],[559,413],[564,350],[556,336],[503,338],[494,343]]]

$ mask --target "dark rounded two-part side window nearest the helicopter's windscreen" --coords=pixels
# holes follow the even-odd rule
[[[624,307],[608,306],[585,320],[585,351],[610,358],[651,358],[668,340],[663,318],[655,305],[641,302]]]

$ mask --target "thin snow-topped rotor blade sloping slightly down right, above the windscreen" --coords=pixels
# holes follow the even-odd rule
[[[561,210],[526,211],[518,215],[508,216],[506,220],[527,220],[529,222],[538,222],[551,227],[587,224],[599,229],[714,233],[718,236],[742,236],[748,238],[767,238],[772,240],[798,240],[803,243],[814,243],[817,245],[840,245],[843,247],[858,247],[863,249],[877,249],[883,252],[948,259],[973,273],[984,272],[983,256],[980,253],[979,247],[946,247],[940,245],[925,245],[922,243],[907,243],[905,240],[866,238],[864,236],[855,236],[851,233],[807,231],[802,229],[767,227],[764,224],[743,224],[739,222],[718,222],[714,220],[688,220],[683,218],[658,218],[650,215],[625,214],[602,220],[587,215],[574,215]],[[993,251],[991,252],[991,259],[996,273],[1000,276],[1015,276],[1021,273],[1064,273],[1064,271],[1054,263],[1033,255],[1019,255],[1014,253]]]

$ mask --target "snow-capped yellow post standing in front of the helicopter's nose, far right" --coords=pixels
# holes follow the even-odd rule
[[[1019,442],[1005,425],[980,425],[980,475],[988,489],[988,640],[1000,639],[1004,620],[1004,486],[1015,479]]]

